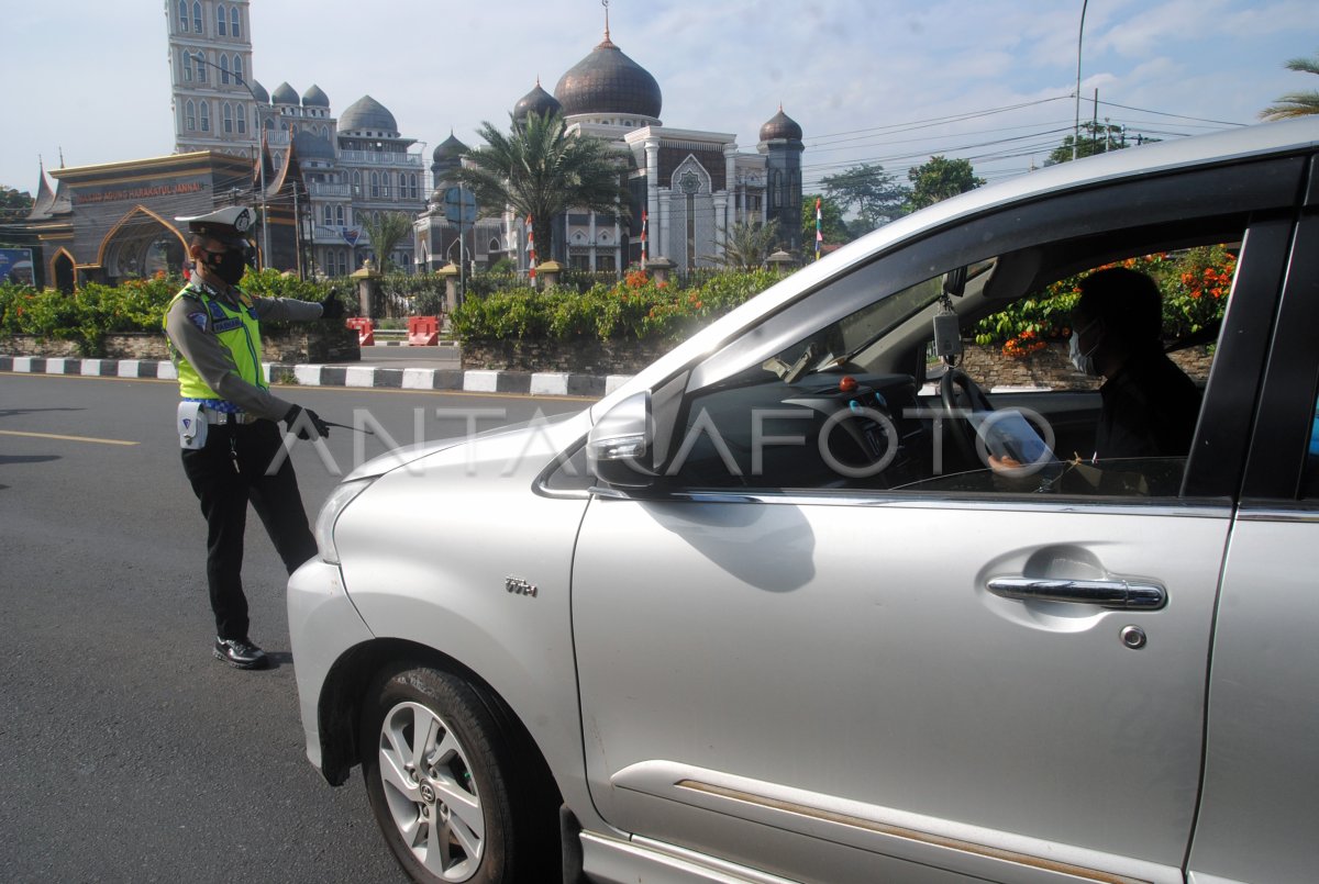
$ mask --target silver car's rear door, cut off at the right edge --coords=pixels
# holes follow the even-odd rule
[[[1319,868],[1316,329],[1319,217],[1311,208],[1293,248],[1223,573],[1204,798],[1188,867],[1196,884],[1312,881]]]

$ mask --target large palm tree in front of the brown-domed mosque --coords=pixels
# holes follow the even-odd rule
[[[481,123],[479,134],[485,146],[463,154],[452,177],[487,212],[530,215],[542,254],[550,253],[553,220],[570,208],[628,216],[619,155],[601,138],[570,136],[562,115],[528,113],[508,134]]]

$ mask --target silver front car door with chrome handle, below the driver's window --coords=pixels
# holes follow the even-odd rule
[[[1290,236],[1245,237],[1244,318],[1272,310]],[[1268,325],[1233,310],[1202,414],[1239,394],[1215,378],[1261,370]],[[601,815],[794,880],[1182,880],[1245,429],[1202,418],[1211,439],[1170,498],[592,499],[572,607]],[[1165,597],[1002,592],[1059,580]]]

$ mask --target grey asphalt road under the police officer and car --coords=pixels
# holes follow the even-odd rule
[[[398,444],[417,428],[460,435],[477,412],[485,429],[587,404],[281,390]],[[335,789],[303,755],[285,573],[255,514],[244,584],[252,638],[274,667],[211,657],[177,395],[173,382],[0,373],[0,879],[404,880],[357,772]],[[344,429],[328,441],[343,472],[384,451]],[[306,445],[293,458],[314,519],[338,480]]]

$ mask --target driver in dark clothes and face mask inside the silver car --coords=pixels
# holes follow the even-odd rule
[[[1080,282],[1071,361],[1104,377],[1095,460],[1184,457],[1200,414],[1200,390],[1163,353],[1158,286],[1144,273],[1109,267]]]

